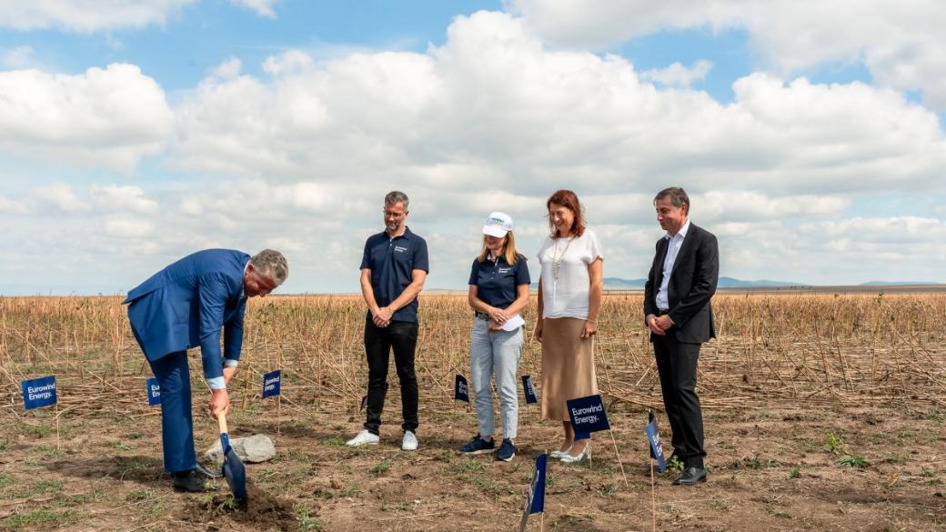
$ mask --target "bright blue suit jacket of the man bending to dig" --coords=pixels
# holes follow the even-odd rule
[[[188,255],[152,275],[128,293],[128,317],[149,360],[201,347],[203,376],[223,375],[224,354],[238,360],[243,344],[243,272],[250,256],[236,250],[208,249]]]

